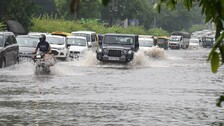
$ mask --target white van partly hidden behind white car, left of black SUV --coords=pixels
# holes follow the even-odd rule
[[[90,47],[97,47],[97,40],[96,40],[96,32],[93,31],[75,31],[71,33],[72,36],[81,36],[81,37],[85,37],[88,45]]]

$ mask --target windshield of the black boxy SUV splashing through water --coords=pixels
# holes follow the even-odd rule
[[[121,44],[121,45],[133,45],[134,37],[131,36],[105,36],[104,44]]]

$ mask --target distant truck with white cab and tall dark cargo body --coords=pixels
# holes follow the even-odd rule
[[[190,33],[188,33],[188,32],[181,32],[181,31],[175,31],[175,32],[171,33],[171,37],[172,36],[181,36],[180,39],[179,39],[180,47],[178,47],[178,49],[179,48],[182,48],[182,49],[187,49],[188,48],[189,40],[190,40],[190,36],[191,36]],[[174,43],[172,43],[172,41],[171,41],[171,45],[174,45]]]

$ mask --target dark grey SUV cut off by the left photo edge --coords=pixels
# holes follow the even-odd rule
[[[19,61],[19,46],[12,32],[0,32],[0,68]]]

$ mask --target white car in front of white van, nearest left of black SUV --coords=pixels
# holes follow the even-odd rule
[[[89,50],[88,42],[85,37],[67,36],[70,55],[75,58],[82,57]]]

